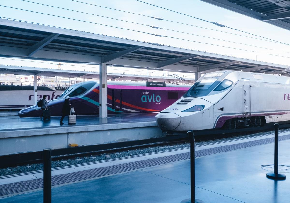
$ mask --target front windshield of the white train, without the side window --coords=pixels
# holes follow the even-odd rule
[[[184,97],[203,97],[208,95],[219,83],[219,78],[224,73],[208,73],[196,82],[183,96]]]

